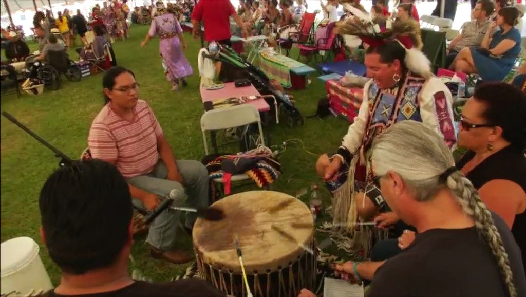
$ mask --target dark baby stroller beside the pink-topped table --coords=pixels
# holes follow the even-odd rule
[[[215,61],[227,63],[230,67],[221,67],[221,75],[224,82],[232,82],[235,80],[247,78],[252,85],[258,90],[261,95],[274,95],[278,104],[278,114],[276,117],[283,118],[289,127],[295,127],[304,124],[298,108],[290,100],[289,96],[284,92],[272,86],[268,76],[261,72],[256,66],[250,64],[241,57],[231,47],[225,45],[218,45],[219,53],[211,58]],[[228,69],[228,71],[227,71]],[[225,77],[226,76],[226,77]],[[274,101],[266,98],[270,106],[274,105]]]

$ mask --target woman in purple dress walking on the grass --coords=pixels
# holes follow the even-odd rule
[[[167,11],[163,2],[158,1],[156,6],[157,12],[151,21],[150,31],[140,46],[145,46],[155,34],[159,36],[159,52],[163,58],[165,74],[168,81],[174,85],[172,90],[177,91],[179,81],[183,86],[187,86],[185,77],[193,74],[192,67],[183,53],[183,49],[186,49],[183,29],[175,16]]]

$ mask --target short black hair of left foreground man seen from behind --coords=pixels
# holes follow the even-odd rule
[[[75,161],[56,170],[42,187],[39,206],[45,244],[63,272],[106,268],[130,241],[128,184],[104,161]]]

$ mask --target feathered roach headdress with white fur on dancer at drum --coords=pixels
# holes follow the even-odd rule
[[[397,41],[406,49],[404,63],[409,71],[424,78],[432,76],[431,62],[421,51],[422,38],[418,22],[412,19],[392,21],[383,17],[371,19],[367,13],[350,3],[342,5],[355,17],[337,24],[339,34],[358,36],[369,46],[380,46],[390,41]]]

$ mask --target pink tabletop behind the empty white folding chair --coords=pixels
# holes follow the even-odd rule
[[[226,83],[225,87],[220,88],[219,90],[206,90],[205,87],[201,87],[200,91],[201,100],[203,100],[203,103],[232,97],[261,95],[253,85],[246,87],[236,87],[234,86],[234,83]],[[270,110],[270,106],[264,98],[251,100],[248,104],[254,105],[260,112],[266,112]]]

